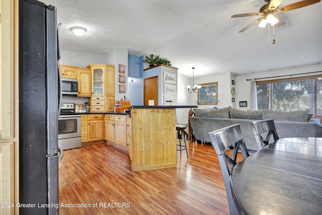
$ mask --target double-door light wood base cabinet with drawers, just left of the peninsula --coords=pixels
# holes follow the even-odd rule
[[[126,116],[105,115],[105,139],[126,147]]]

